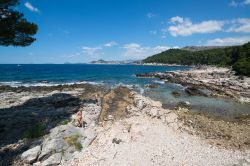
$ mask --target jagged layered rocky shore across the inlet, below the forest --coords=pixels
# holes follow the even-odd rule
[[[250,78],[236,76],[227,68],[199,67],[187,71],[140,73],[136,76],[181,84],[190,95],[218,96],[250,104]]]

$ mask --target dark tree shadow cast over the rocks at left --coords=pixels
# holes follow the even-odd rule
[[[0,165],[12,165],[17,156],[39,144],[39,137],[69,119],[84,102],[72,95],[57,93],[0,109]]]

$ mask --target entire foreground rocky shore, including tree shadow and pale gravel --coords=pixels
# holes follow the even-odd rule
[[[0,86],[0,165],[250,164],[249,124],[122,86]]]

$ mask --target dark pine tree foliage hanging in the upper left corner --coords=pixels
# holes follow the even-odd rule
[[[36,39],[37,25],[28,22],[16,11],[18,0],[0,0],[0,45],[29,46]]]

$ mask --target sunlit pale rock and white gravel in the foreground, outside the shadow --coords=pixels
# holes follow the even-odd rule
[[[110,96],[109,96],[110,97]],[[100,103],[81,105],[84,126],[71,121],[50,130],[37,145],[21,155],[22,165],[240,165],[250,153],[208,144],[185,132],[177,114],[150,98],[129,92],[133,103],[125,117],[102,113]],[[120,103],[123,106],[123,103]],[[121,109],[120,105],[116,105]]]

